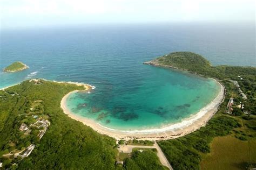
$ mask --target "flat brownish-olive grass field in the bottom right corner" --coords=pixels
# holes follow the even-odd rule
[[[211,144],[211,154],[201,162],[201,169],[246,169],[250,165],[248,162],[256,160],[255,148],[256,140],[216,137]]]

